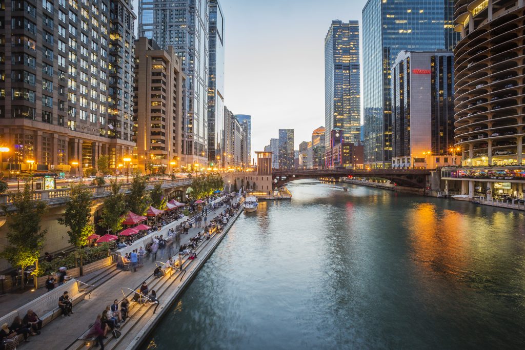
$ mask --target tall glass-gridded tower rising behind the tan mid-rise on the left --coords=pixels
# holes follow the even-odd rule
[[[181,160],[207,164],[209,0],[140,0],[139,36],[172,45],[186,75]]]

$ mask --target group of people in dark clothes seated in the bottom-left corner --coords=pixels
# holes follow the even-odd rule
[[[27,310],[23,319],[16,316],[11,325],[4,323],[0,329],[0,348],[14,350],[22,342],[29,342],[29,336],[40,334],[42,320],[33,310]],[[3,346],[3,347],[2,347]]]

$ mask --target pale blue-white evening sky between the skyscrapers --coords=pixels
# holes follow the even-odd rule
[[[324,37],[333,19],[361,25],[366,0],[219,1],[225,105],[251,115],[252,153],[263,151],[278,129],[295,129],[298,149],[324,126]]]

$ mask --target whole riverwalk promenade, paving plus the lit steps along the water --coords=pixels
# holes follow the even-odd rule
[[[217,208],[216,210],[208,211],[208,220],[217,217],[226,209],[226,206]],[[144,306],[134,306],[130,309],[129,319],[121,325],[122,336],[117,340],[110,336],[104,341],[105,349],[134,349],[137,348],[144,338],[148,335],[154,322],[157,322],[164,310],[169,309],[171,302],[177,298],[182,292],[187,283],[191,282],[194,274],[200,269],[205,260],[211,255],[220,240],[224,237],[229,227],[240,214],[242,207],[229,220],[228,224],[220,233],[215,233],[210,240],[204,240],[197,248],[197,257],[194,260],[185,259],[183,268],[184,272],[166,273],[161,279],[152,277],[153,270],[159,261],[165,262],[168,258],[167,253],[164,259],[160,258],[160,253],[157,256],[157,262],[149,260],[144,261],[144,266],[138,268],[137,272],[116,270],[114,266],[108,269],[106,273],[111,273],[111,278],[104,281],[100,285],[96,285],[88,297],[74,306],[75,313],[69,317],[58,317],[45,325],[41,330],[41,335],[30,337],[29,344],[20,344],[19,349],[29,349],[38,347],[43,349],[81,349],[81,348],[95,348],[93,342],[86,340],[80,341],[79,337],[84,334],[90,325],[95,322],[97,314],[102,313],[107,305],[111,305],[113,300],[122,300],[123,295],[130,294],[131,290],[136,290],[138,286],[146,281],[148,282],[150,292],[156,290],[160,304],[155,305],[146,304]],[[202,232],[203,228],[193,227],[187,235],[181,235],[181,244],[184,245],[189,239],[195,236],[198,232]],[[174,249],[174,253],[178,249]],[[93,274],[100,272],[93,272]],[[87,274],[80,278],[83,281],[89,281],[90,275]],[[3,303],[0,304],[0,315],[5,315],[10,311],[16,309],[17,305],[25,304],[36,298],[36,294],[24,293],[16,295],[13,302],[10,302],[7,297]],[[41,292],[39,292],[41,293]],[[26,298],[26,300],[24,300]],[[128,298],[130,300],[131,298]],[[58,300],[57,300],[58,304]],[[9,323],[12,320],[9,321]],[[109,335],[109,334],[108,334]]]

